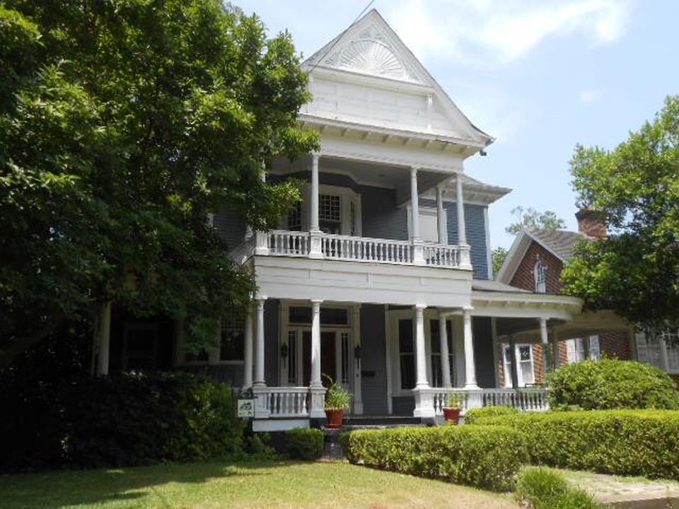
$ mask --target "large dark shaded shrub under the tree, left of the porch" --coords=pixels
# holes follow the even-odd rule
[[[228,385],[187,373],[112,375],[62,397],[64,450],[81,467],[227,457],[243,450]]]

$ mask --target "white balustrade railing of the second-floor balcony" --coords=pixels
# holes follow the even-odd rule
[[[247,240],[236,247],[231,252],[231,258],[243,263],[252,254],[453,269],[470,268],[468,245],[446,245],[289,230],[257,233],[254,240]]]

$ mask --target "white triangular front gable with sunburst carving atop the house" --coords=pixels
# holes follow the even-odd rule
[[[393,129],[445,137],[483,148],[492,138],[477,129],[373,10],[315,52],[303,66],[313,100],[308,122]]]

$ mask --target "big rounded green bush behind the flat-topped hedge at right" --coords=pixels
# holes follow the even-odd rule
[[[557,369],[548,384],[552,409],[679,409],[679,391],[672,378],[645,363],[581,361]]]

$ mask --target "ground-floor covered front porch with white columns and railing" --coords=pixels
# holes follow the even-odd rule
[[[563,305],[543,300],[533,312],[551,308],[563,320],[568,315]],[[463,411],[489,405],[546,410],[544,387],[499,387],[497,359],[504,338],[497,334],[497,317],[486,312],[482,305],[258,300],[245,329],[246,358],[253,341],[254,362],[250,369],[246,362],[243,380],[255,398],[253,429],[322,424],[323,375],[352,392],[349,416],[410,416],[436,423],[452,392],[460,395]],[[533,320],[539,327],[540,314]],[[276,330],[267,332],[259,324],[276,324]]]

